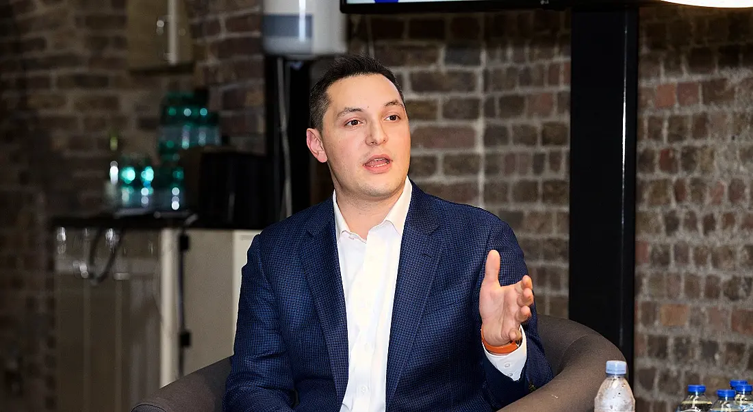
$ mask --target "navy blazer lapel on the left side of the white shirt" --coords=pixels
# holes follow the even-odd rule
[[[307,230],[310,237],[300,249],[300,260],[322,325],[338,401],[342,403],[348,383],[348,322],[331,199],[309,219]]]

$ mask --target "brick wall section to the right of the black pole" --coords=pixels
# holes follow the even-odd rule
[[[641,14],[638,410],[753,377],[751,34],[751,11]]]

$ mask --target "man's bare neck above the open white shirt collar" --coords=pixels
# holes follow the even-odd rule
[[[358,200],[347,194],[337,192],[337,207],[343,215],[351,232],[358,234],[361,239],[366,239],[369,230],[380,224],[387,217],[392,206],[398,202],[404,191],[404,185],[395,194],[383,200]]]

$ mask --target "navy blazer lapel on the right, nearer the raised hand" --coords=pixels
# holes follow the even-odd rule
[[[441,240],[434,234],[439,221],[431,209],[428,195],[414,184],[412,196],[401,241],[387,351],[387,410],[405,363],[410,359],[413,340],[437,272],[442,249]]]

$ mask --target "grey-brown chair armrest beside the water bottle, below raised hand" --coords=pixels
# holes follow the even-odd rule
[[[584,335],[562,353],[562,371],[553,380],[498,412],[592,412],[608,360],[625,358],[605,337]]]

